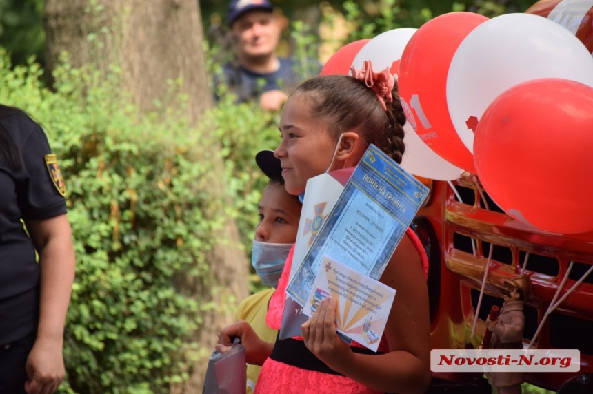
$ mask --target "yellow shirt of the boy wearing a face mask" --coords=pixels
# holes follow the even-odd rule
[[[278,335],[278,330],[272,330],[268,327],[268,324],[265,324],[265,315],[268,313],[268,303],[275,290],[276,289],[274,288],[270,288],[245,298],[245,300],[239,304],[239,309],[237,309],[237,314],[235,315],[237,320],[243,319],[248,322],[253,327],[255,333],[257,333],[257,336],[266,342],[276,342],[276,337]],[[261,366],[259,365],[247,364],[248,394],[253,393],[260,369]]]

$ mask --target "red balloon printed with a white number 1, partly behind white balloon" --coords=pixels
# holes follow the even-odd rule
[[[399,92],[403,109],[416,133],[450,163],[476,172],[474,159],[449,116],[447,74],[455,51],[487,17],[472,12],[450,12],[421,26],[406,45],[399,64]]]

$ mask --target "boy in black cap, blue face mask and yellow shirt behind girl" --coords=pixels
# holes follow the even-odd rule
[[[280,160],[271,150],[263,150],[255,156],[261,171],[270,178],[261,194],[259,223],[253,239],[252,265],[263,284],[270,289],[250,295],[239,304],[235,318],[245,320],[259,338],[274,342],[278,330],[265,324],[268,302],[276,290],[288,252],[297,240],[302,204],[298,196],[288,194],[284,188]],[[247,366],[247,393],[253,393],[261,366]]]

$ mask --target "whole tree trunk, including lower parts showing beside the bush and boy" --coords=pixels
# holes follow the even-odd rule
[[[143,111],[157,109],[155,102],[166,103],[170,94],[179,92],[188,97],[188,118],[192,124],[212,107],[198,1],[46,0],[44,23],[48,70],[54,69],[59,55],[66,51],[72,66],[94,64],[105,76],[110,72],[110,65],[118,65],[122,89],[131,93]],[[171,92],[168,80],[179,78],[179,90]],[[218,152],[219,147],[204,149]],[[215,167],[217,174],[212,179],[217,183],[208,187],[216,195],[224,196],[223,163],[215,163]],[[245,298],[248,264],[237,246],[239,233],[234,221],[228,220],[212,238],[221,242],[208,256],[210,277],[201,283],[178,284],[180,291],[189,291],[214,305],[224,304],[230,297]],[[232,318],[232,313],[225,311],[205,313],[202,328],[194,338],[205,353],[212,351],[219,329],[230,324]],[[201,392],[205,362],[201,360],[194,366],[188,382],[172,387],[171,391]]]

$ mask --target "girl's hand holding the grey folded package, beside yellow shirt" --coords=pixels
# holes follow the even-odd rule
[[[234,338],[241,338],[241,344],[245,346],[245,362],[248,364],[263,364],[274,348],[274,344],[259,339],[248,322],[239,320],[221,329],[219,342],[216,345],[217,351],[223,354],[230,351]]]

